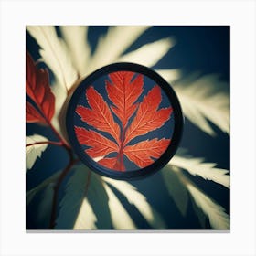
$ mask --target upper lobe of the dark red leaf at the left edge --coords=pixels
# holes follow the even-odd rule
[[[49,87],[48,70],[37,69],[28,53],[26,53],[26,92],[37,104],[40,114],[50,122],[55,110],[55,98]]]

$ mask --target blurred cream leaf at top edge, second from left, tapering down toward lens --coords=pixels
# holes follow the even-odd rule
[[[61,34],[67,43],[75,69],[80,77],[87,72],[90,65],[91,48],[87,40],[87,26],[60,26]]]

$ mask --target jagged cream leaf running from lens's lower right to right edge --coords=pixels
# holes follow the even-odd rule
[[[175,155],[168,165],[175,165],[187,170],[193,176],[201,176],[206,180],[212,180],[225,187],[230,187],[229,170],[216,168],[217,164],[204,163],[204,159],[191,156]]]

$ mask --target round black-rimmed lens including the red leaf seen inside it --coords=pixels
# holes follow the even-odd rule
[[[175,91],[155,71],[115,63],[80,82],[66,128],[84,165],[101,176],[131,180],[155,173],[175,155],[183,115]]]

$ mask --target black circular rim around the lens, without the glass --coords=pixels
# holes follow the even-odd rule
[[[84,152],[80,148],[80,143],[77,139],[75,130],[74,130],[74,123],[73,123],[73,116],[75,113],[75,109],[77,106],[77,102],[80,99],[80,94],[85,91],[87,87],[89,87],[94,80],[99,79],[103,75],[108,75],[112,72],[116,71],[133,71],[136,73],[143,74],[144,76],[154,80],[156,84],[165,91],[165,94],[169,101],[172,104],[173,114],[175,119],[175,126],[174,126],[174,133],[171,137],[171,143],[168,145],[167,149],[155,162],[151,165],[145,166],[142,169],[138,169],[135,171],[127,171],[127,172],[118,172],[113,171],[109,168],[106,168],[102,165],[97,164],[94,160],[91,159],[89,155],[84,154]],[[101,69],[97,69],[87,78],[80,82],[80,85],[77,89],[73,92],[71,99],[69,101],[69,106],[66,115],[66,129],[69,136],[69,142],[74,149],[75,153],[80,157],[80,160],[87,165],[91,170],[98,173],[101,176],[108,176],[114,179],[123,179],[123,180],[133,180],[138,178],[143,178],[145,176],[149,176],[157,172],[158,170],[162,169],[175,155],[176,149],[178,144],[181,140],[182,132],[183,132],[183,123],[184,118],[181,110],[180,103],[177,99],[176,92],[172,89],[172,87],[167,83],[160,75],[158,75],[152,69],[148,69],[142,65],[128,63],[128,62],[121,62],[121,63],[114,63]]]

